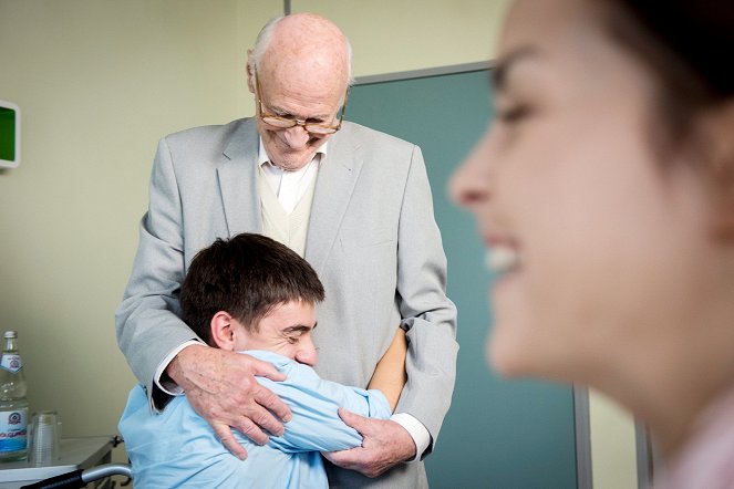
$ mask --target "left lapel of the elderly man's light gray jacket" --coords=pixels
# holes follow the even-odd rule
[[[228,160],[217,169],[229,236],[261,232],[262,229],[257,189],[258,147],[255,122],[245,119],[232,132],[225,147],[224,155]]]

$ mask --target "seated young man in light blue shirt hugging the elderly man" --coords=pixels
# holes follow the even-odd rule
[[[339,407],[386,419],[405,383],[405,336],[383,356],[365,391],[321,379],[312,366],[314,305],[323,300],[317,273],[296,252],[269,238],[242,233],[217,240],[193,260],[180,291],[184,321],[210,346],[272,363],[283,382],[258,377],[290,407],[285,434],[235,457],[185,396],[153,414],[142,385],[133,388],[120,431],[136,487],[328,487],[319,451],[360,446],[362,437]],[[381,391],[376,391],[380,388]]]

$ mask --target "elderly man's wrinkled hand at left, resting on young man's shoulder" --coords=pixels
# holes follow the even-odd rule
[[[230,427],[265,445],[269,437],[263,430],[276,436],[283,433],[282,424],[275,416],[283,422],[291,418],[288,406],[255,379],[255,375],[286,379],[286,375],[268,362],[190,345],[174,357],[166,372],[186,392],[194,409],[211,425],[227,449],[240,459],[247,458],[247,450],[237,443]]]

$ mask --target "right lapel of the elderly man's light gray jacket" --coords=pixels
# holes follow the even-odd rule
[[[349,133],[349,128],[343,127],[329,141],[329,153],[321,163],[316,181],[306,259],[319,274],[324,270],[362,169],[360,145]]]

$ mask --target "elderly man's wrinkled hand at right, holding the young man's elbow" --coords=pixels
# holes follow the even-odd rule
[[[413,438],[397,423],[365,418],[344,408],[339,409],[339,416],[348,426],[356,429],[364,440],[361,447],[350,450],[323,452],[330,462],[356,470],[366,477],[378,477],[415,457]]]

